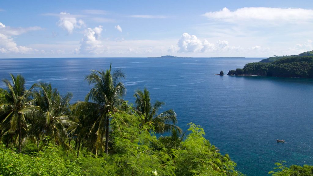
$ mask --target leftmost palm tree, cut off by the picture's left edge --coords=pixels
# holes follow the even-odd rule
[[[2,119],[0,128],[6,129],[3,135],[7,134],[17,134],[18,137],[18,152],[22,150],[22,142],[27,132],[27,117],[29,117],[28,112],[32,112],[36,109],[36,106],[31,105],[33,101],[30,99],[32,89],[35,86],[32,85],[30,89],[25,88],[25,79],[22,75],[10,74],[12,78],[12,83],[3,79],[3,82],[8,88],[8,94],[6,95],[7,103],[0,105],[0,114],[5,114]]]

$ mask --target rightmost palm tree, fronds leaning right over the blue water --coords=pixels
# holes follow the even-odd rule
[[[136,110],[144,116],[142,124],[151,123],[154,126],[154,130],[157,133],[163,133],[175,128],[180,133],[182,130],[175,125],[177,123],[176,113],[170,109],[157,114],[158,109],[164,105],[164,102],[155,101],[154,105],[151,105],[150,93],[144,88],[143,92],[137,90],[134,97],[136,97]],[[172,124],[169,124],[172,122]]]

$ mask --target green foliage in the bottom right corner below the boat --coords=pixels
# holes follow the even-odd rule
[[[272,176],[312,176],[313,166],[304,165],[303,167],[297,165],[291,165],[290,168],[284,165],[285,161],[275,163],[277,167],[269,174]]]

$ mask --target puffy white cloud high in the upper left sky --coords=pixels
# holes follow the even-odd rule
[[[64,30],[67,30],[68,34],[72,34],[74,28],[81,28],[85,26],[85,23],[81,19],[77,20],[77,18],[70,16],[69,13],[61,12],[58,25]]]

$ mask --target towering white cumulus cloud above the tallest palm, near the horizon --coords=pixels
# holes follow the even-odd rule
[[[102,32],[102,26],[95,27],[93,29],[88,28],[84,38],[80,42],[80,48],[76,49],[77,54],[100,54],[104,49],[99,40]]]

